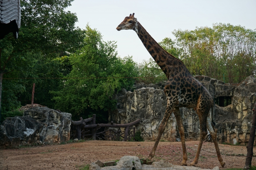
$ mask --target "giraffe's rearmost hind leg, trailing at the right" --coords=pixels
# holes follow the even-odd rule
[[[219,145],[218,145],[218,141],[217,141],[217,130],[215,129],[214,124],[211,121],[210,113],[209,113],[209,115],[207,117],[207,129],[209,130],[209,132],[211,134],[211,137],[212,137],[212,140],[214,142],[215,150],[217,152],[217,157],[218,157],[218,160],[220,162],[220,165],[222,167],[224,167],[225,166],[225,162],[221,158],[220,149],[219,149]]]

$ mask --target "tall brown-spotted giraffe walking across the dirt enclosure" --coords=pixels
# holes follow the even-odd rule
[[[134,30],[145,48],[148,50],[149,54],[163,70],[168,79],[164,86],[164,92],[167,97],[166,111],[159,126],[155,144],[149,154],[148,159],[151,160],[155,156],[159,140],[164,132],[169,117],[173,112],[180,132],[183,150],[183,160],[180,165],[187,166],[188,155],[185,144],[184,127],[179,109],[180,107],[187,107],[195,109],[200,122],[200,141],[198,144],[196,157],[190,166],[196,166],[198,163],[199,154],[208,129],[212,136],[220,165],[224,167],[225,162],[221,158],[220,149],[217,142],[217,129],[215,129],[215,126],[211,120],[210,109],[213,107],[213,98],[210,92],[190,74],[181,60],[166,52],[149,35],[145,28],[143,28],[143,26],[141,26],[141,24],[137,21],[137,18],[134,17],[134,13],[130,14],[129,17],[125,17],[124,21],[121,22],[116,29],[118,31]]]

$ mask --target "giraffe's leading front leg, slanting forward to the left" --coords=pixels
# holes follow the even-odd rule
[[[170,105],[168,105],[168,103],[169,102],[167,102],[167,107],[166,107],[166,111],[165,111],[163,120],[162,120],[162,122],[161,122],[161,124],[160,124],[160,126],[158,128],[158,135],[156,137],[156,142],[155,142],[155,144],[154,144],[154,146],[152,148],[152,151],[149,154],[149,157],[148,157],[149,160],[151,160],[155,156],[155,152],[156,152],[156,148],[157,148],[157,145],[159,143],[159,140],[160,140],[162,134],[164,133],[164,129],[166,127],[166,124],[167,124],[167,122],[168,122],[168,120],[170,118],[170,115],[172,114],[173,108]]]

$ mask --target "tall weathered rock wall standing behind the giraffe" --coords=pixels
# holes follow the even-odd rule
[[[195,76],[214,96],[231,97],[232,104],[226,107],[215,105],[213,121],[218,129],[218,141],[231,144],[246,143],[252,124],[252,108],[256,102],[256,79],[247,77],[240,84],[225,84],[207,76]],[[155,140],[167,104],[163,83],[135,84],[133,92],[122,89],[116,94],[117,109],[109,111],[109,122],[129,123],[138,118],[143,122],[137,127],[144,140]],[[186,140],[199,140],[200,126],[193,108],[180,108]],[[180,141],[175,117],[172,113],[161,139]]]

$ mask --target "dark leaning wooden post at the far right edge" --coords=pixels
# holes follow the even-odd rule
[[[255,137],[255,129],[256,129],[256,103],[254,104],[253,108],[253,116],[252,116],[252,128],[250,131],[250,138],[247,145],[247,156],[245,159],[245,166],[244,169],[250,169],[252,165],[252,156],[253,156],[253,144],[254,144],[254,137]]]

